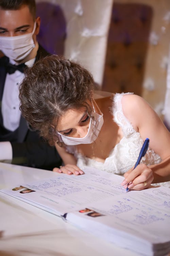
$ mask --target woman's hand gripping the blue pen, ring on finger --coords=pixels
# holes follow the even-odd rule
[[[129,171],[124,173],[125,180],[121,183],[124,188],[133,190],[142,190],[148,188],[153,181],[152,170],[142,163],[135,169],[131,168]],[[129,184],[129,185],[128,185]]]

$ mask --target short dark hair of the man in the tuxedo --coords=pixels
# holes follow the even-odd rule
[[[0,8],[3,10],[19,10],[22,5],[27,5],[33,19],[36,18],[35,0],[0,0]]]

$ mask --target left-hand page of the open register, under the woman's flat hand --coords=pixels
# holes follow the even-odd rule
[[[94,168],[87,168],[84,172],[85,174],[78,176],[56,173],[56,178],[52,176],[42,181],[19,184],[16,187],[23,188],[18,190],[13,187],[1,191],[57,215],[63,215],[90,202],[125,193],[120,185],[124,179],[122,176]],[[26,188],[32,191],[23,193]]]

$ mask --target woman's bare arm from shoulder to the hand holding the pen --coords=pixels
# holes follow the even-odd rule
[[[165,182],[170,180],[170,133],[162,120],[151,106],[137,95],[125,95],[122,98],[122,109],[125,117],[132,123],[134,129],[140,133],[143,141],[150,139],[150,148],[162,158],[157,165],[139,165],[126,172],[125,180],[132,182],[131,188],[143,189],[149,183]],[[154,180],[151,181],[151,171]],[[147,183],[147,186],[144,186]]]

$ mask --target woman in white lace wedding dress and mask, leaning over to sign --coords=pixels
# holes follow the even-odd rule
[[[22,115],[63,159],[63,166],[53,171],[80,175],[91,166],[124,175],[125,188],[168,185],[170,133],[141,97],[96,97],[91,74],[56,55],[27,70],[19,97]],[[148,151],[133,170],[146,138]]]

